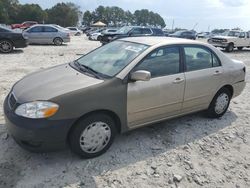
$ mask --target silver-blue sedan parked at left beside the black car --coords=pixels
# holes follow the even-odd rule
[[[23,32],[30,44],[55,44],[70,42],[70,34],[52,25],[34,25]]]

